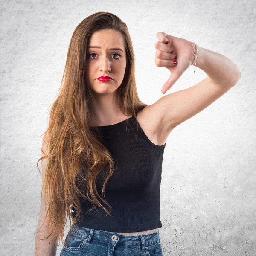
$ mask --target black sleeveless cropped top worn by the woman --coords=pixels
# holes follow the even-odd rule
[[[102,143],[115,163],[114,173],[105,186],[105,199],[112,207],[112,217],[100,207],[86,214],[92,204],[83,202],[84,216],[79,226],[110,232],[140,232],[162,227],[160,183],[166,143],[152,143],[140,125],[137,126],[134,115],[98,128]],[[109,164],[96,177],[99,194],[108,171]],[[103,206],[110,210],[107,205]]]

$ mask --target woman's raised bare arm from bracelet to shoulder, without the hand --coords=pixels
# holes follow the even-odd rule
[[[196,67],[208,76],[192,87],[161,97],[148,108],[151,116],[155,114],[160,119],[157,133],[169,135],[177,125],[227,93],[241,77],[238,67],[230,59],[202,47],[198,47]]]

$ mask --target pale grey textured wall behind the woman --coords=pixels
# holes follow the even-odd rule
[[[154,63],[158,31],[219,52],[239,67],[238,84],[166,142],[160,237],[164,256],[256,255],[255,7],[253,0],[1,0],[0,254],[34,254],[41,197],[36,162],[47,108],[74,29],[93,12],[108,11],[128,25],[137,89],[147,104],[163,96],[170,74]],[[166,94],[205,77],[191,66]]]

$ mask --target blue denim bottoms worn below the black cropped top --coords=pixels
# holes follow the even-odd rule
[[[72,224],[69,234],[60,256],[163,256],[159,231],[126,236]]]

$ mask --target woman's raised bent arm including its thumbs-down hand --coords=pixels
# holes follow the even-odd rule
[[[167,39],[172,41],[166,44],[168,40],[164,35],[158,35],[161,41],[158,41],[155,46],[157,66],[166,67],[172,73],[162,88],[163,93],[173,86],[195,59],[190,41],[169,35],[170,38]],[[171,50],[173,50],[172,54]],[[173,63],[175,55],[177,64]],[[202,47],[198,47],[196,67],[203,70],[207,78],[192,87],[161,97],[148,108],[148,111],[157,115],[160,120],[159,131],[169,134],[177,125],[195,116],[227,93],[241,77],[238,67],[230,59]]]

